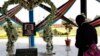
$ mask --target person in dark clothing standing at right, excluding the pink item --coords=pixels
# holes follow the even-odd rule
[[[92,43],[97,44],[97,32],[93,26],[85,22],[85,17],[83,15],[78,15],[76,17],[76,23],[78,29],[76,32],[75,46],[79,49],[78,56],[83,56],[83,52],[88,50]]]

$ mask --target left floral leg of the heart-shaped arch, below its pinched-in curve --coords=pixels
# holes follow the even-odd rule
[[[7,25],[4,26],[4,29],[8,36],[6,51],[8,52],[9,56],[11,56],[13,54],[14,42],[16,42],[18,38],[18,34],[15,28],[13,27],[12,22],[8,18],[6,18],[6,21]]]

